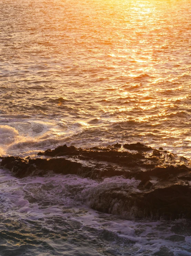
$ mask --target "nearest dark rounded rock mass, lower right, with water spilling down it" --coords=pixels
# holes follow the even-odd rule
[[[100,193],[97,201],[92,201],[90,206],[98,211],[126,217],[170,220],[191,218],[190,203],[189,186],[173,184],[152,186],[134,193],[126,189],[108,189]]]

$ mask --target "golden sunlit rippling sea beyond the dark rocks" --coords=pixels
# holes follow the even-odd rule
[[[189,17],[190,1],[1,1],[2,124],[190,155]]]

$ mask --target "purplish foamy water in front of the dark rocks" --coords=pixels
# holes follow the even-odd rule
[[[0,176],[3,255],[191,255],[191,223],[184,219],[134,221],[84,205],[104,187],[133,189],[134,180],[99,183],[53,174],[17,179],[2,169]]]

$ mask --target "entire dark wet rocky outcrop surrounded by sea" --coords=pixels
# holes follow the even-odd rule
[[[137,218],[191,218],[189,160],[141,143],[125,144],[123,148],[136,151],[123,151],[118,143],[89,149],[62,145],[39,152],[33,159],[5,157],[1,166],[18,178],[42,176],[50,171],[93,179],[135,178],[140,182],[134,191],[124,186],[105,189],[90,206],[102,212]]]

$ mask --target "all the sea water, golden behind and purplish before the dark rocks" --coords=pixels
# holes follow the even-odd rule
[[[0,0],[0,155],[140,141],[190,158],[190,20],[190,0]],[[0,176],[0,255],[191,255],[188,220],[91,209],[135,180]]]

